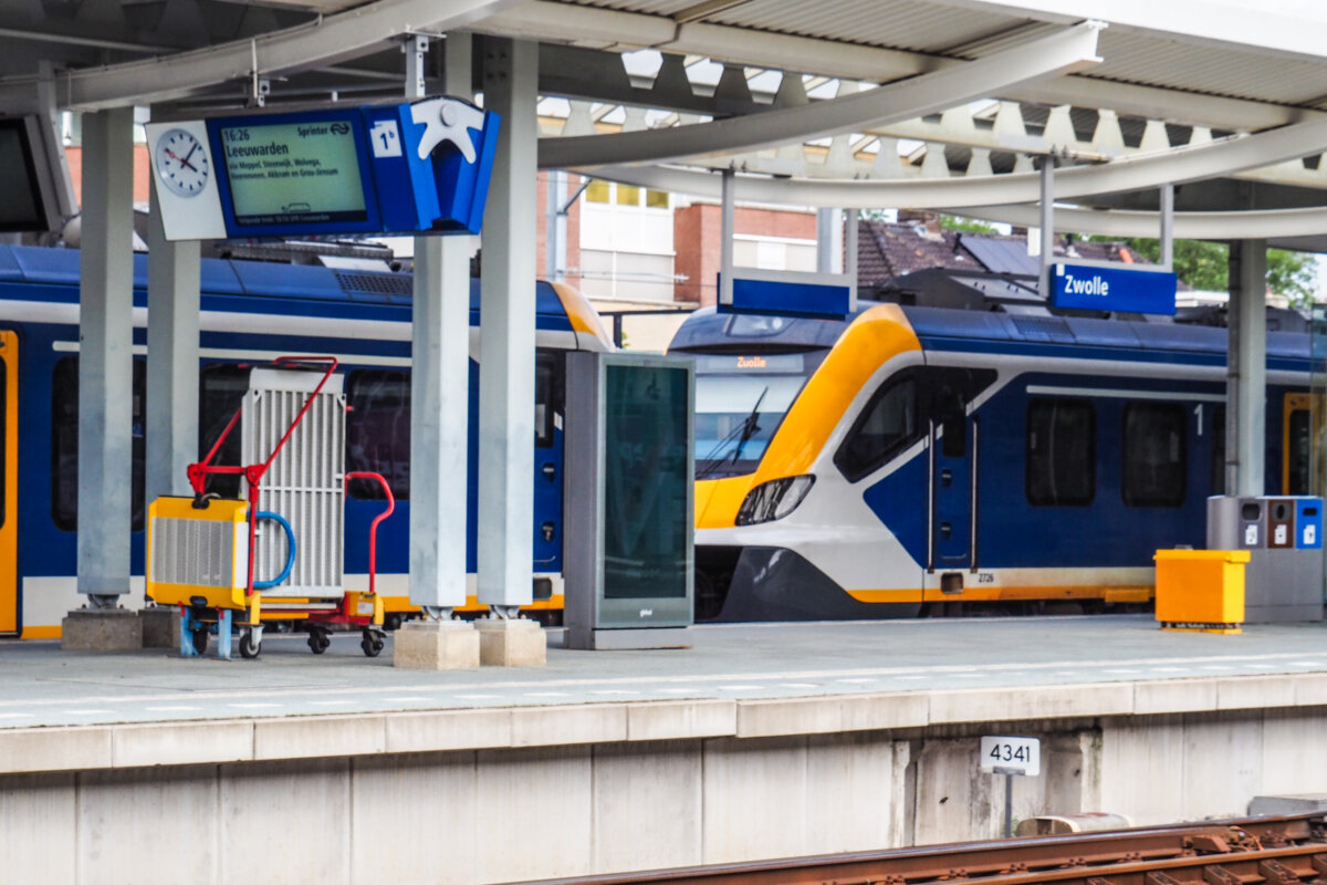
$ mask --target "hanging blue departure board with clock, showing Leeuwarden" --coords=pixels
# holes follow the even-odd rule
[[[478,234],[499,118],[455,98],[150,123],[170,240]]]

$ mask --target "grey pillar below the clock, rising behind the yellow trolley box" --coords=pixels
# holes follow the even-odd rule
[[[151,186],[147,220],[147,502],[190,495],[198,460],[199,244],[170,243]]]

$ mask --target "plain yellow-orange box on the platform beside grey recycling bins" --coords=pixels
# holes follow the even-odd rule
[[[1157,551],[1162,630],[1239,633],[1249,551]]]

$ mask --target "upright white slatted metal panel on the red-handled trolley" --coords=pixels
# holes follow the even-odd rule
[[[242,459],[265,460],[321,379],[321,373],[255,369],[240,418]],[[281,454],[263,476],[260,511],[280,513],[295,532],[291,576],[269,596],[340,598],[345,592],[342,479],[345,475],[345,395],[342,379],[328,379]],[[253,577],[275,577],[285,563],[285,533],[259,524]]]

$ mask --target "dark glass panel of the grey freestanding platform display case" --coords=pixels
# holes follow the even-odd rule
[[[605,368],[604,597],[685,598],[687,373]]]

